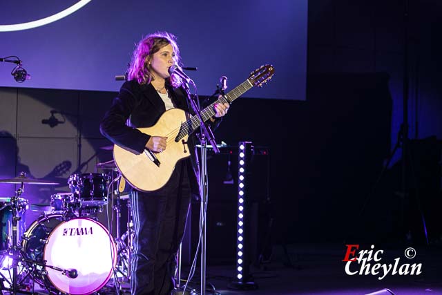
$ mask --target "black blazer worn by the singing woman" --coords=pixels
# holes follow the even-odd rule
[[[186,95],[182,88],[172,88],[166,85],[171,99],[176,108],[181,108],[187,113],[189,111]],[[114,144],[122,146],[133,153],[143,153],[150,135],[144,134],[135,128],[144,128],[155,125],[161,115],[166,111],[164,102],[158,95],[152,84],[138,84],[131,80],[125,82],[119,94],[113,99],[113,104],[104,115],[100,124],[100,131],[104,137]],[[220,119],[211,123],[215,129],[220,123]],[[200,175],[198,155],[195,153],[195,133],[189,136],[188,145],[191,152],[191,166],[189,171],[189,181],[194,196],[200,196],[201,191],[198,185]]]

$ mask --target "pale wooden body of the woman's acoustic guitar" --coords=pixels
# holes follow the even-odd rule
[[[132,187],[140,191],[156,191],[164,187],[175,169],[176,163],[190,156],[186,135],[180,142],[175,142],[182,122],[186,122],[186,112],[180,108],[166,111],[158,122],[151,127],[138,128],[142,133],[153,136],[167,136],[167,146],[162,153],[154,153],[160,161],[157,166],[146,152],[137,155],[115,145],[113,157],[118,170]]]

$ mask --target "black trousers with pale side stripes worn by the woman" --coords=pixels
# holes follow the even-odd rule
[[[175,256],[180,247],[191,200],[187,166],[177,163],[167,184],[153,192],[132,193],[135,241],[131,293],[171,294]]]

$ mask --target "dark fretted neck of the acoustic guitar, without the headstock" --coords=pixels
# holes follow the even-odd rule
[[[211,117],[213,117],[213,115],[215,115],[215,109],[213,108],[213,106],[215,104],[224,104],[224,103],[231,104],[235,99],[237,99],[238,97],[240,97],[241,95],[243,95],[244,93],[249,91],[250,88],[252,88],[252,87],[253,87],[253,84],[251,84],[249,79],[245,80],[240,85],[233,88],[229,93],[220,97],[219,99],[215,100],[215,102],[213,102],[212,104],[209,104],[209,106],[204,108],[204,110],[201,111],[202,120],[204,120],[204,122],[206,122]],[[182,138],[184,136],[190,135],[191,133],[193,133],[193,131],[198,129],[200,124],[201,124],[201,122],[197,116],[193,116],[189,120],[187,120],[186,122],[183,122],[181,124],[180,132],[178,133],[177,137],[175,138],[175,142],[179,142],[180,140],[182,140]]]

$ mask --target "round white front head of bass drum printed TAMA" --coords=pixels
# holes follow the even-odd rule
[[[117,251],[112,236],[101,223],[90,218],[75,218],[61,222],[51,232],[44,248],[44,260],[46,265],[77,270],[78,276],[70,278],[46,267],[50,282],[59,291],[91,294],[111,278]]]

